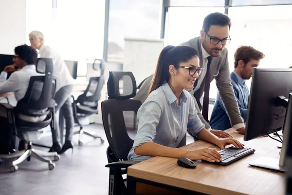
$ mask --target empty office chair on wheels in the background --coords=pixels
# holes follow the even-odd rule
[[[73,98],[73,116],[74,121],[78,125],[80,125],[80,130],[74,134],[79,134],[78,145],[82,146],[82,135],[88,135],[93,138],[100,138],[101,143],[104,143],[104,140],[96,135],[93,135],[87,131],[83,130],[84,125],[90,124],[88,116],[93,114],[98,114],[98,101],[101,97],[101,89],[105,83],[104,80],[104,70],[105,70],[105,62],[101,59],[95,59],[93,63],[93,69],[98,70],[100,68],[100,76],[99,77],[91,77],[89,80],[89,84],[84,91],[76,100]]]

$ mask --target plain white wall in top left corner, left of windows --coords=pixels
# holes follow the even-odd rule
[[[0,54],[14,54],[26,39],[26,0],[0,0]]]

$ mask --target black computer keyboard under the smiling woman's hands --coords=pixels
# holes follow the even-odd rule
[[[222,156],[222,161],[214,162],[219,165],[229,165],[230,163],[237,161],[244,156],[248,156],[253,154],[256,150],[252,148],[242,148],[237,149],[236,147],[230,147],[223,150],[218,151],[219,154]]]

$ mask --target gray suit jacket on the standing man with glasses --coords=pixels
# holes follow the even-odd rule
[[[201,50],[201,38],[197,37],[194,39],[190,39],[186,42],[183,42],[181,45],[188,45],[193,47],[199,52],[200,55],[200,66],[202,67],[202,50]],[[227,111],[227,115],[231,120],[232,125],[236,125],[238,123],[243,123],[242,119],[240,117],[240,112],[237,105],[237,100],[234,95],[234,91],[231,85],[230,80],[230,71],[229,71],[229,63],[228,63],[228,55],[227,55],[227,49],[224,48],[220,54],[219,57],[211,59],[210,64],[210,72],[209,74],[213,75],[212,80],[216,79],[216,85],[219,91],[219,95],[222,99],[222,102],[225,106],[225,110]],[[147,78],[144,83],[141,85],[140,90],[137,92],[137,95],[134,97],[134,99],[139,99],[142,103],[146,100],[146,95],[148,93],[148,90],[150,88],[152,76]],[[202,75],[198,78],[198,84],[193,90],[188,90],[194,97],[195,93],[199,93],[198,97],[202,99],[202,94],[204,90],[205,83]],[[210,128],[210,125],[207,123],[207,121],[204,120],[203,116],[201,115],[201,103],[200,99],[195,100],[195,106],[198,110],[198,116],[201,118],[201,121],[206,125],[206,129]],[[201,101],[202,102],[202,101]],[[198,104],[199,103],[199,104]]]

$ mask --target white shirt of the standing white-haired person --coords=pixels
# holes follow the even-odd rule
[[[73,85],[73,78],[64,60],[57,52],[55,52],[55,50],[43,44],[39,49],[39,55],[40,58],[53,59],[54,64],[53,75],[56,77],[56,92],[66,85]]]

